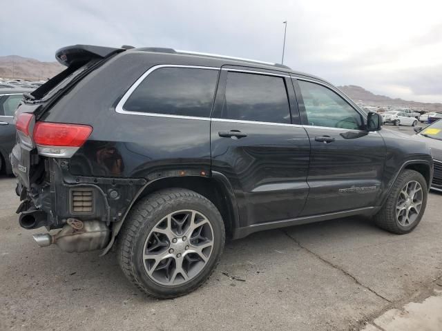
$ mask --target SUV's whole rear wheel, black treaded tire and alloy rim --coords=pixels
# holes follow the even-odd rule
[[[211,201],[191,190],[161,190],[128,215],[119,236],[119,264],[149,296],[179,297],[209,278],[224,240],[224,223]]]

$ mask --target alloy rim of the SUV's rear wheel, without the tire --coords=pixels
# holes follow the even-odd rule
[[[211,257],[213,228],[196,210],[177,210],[148,234],[143,263],[148,277],[161,285],[180,285],[195,278]]]

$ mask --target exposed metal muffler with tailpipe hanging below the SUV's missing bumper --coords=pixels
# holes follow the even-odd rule
[[[65,252],[86,252],[105,248],[111,237],[111,230],[102,221],[68,219],[57,234],[39,233],[32,237],[40,247],[55,243]]]

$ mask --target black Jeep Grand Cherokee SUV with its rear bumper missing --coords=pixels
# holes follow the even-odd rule
[[[66,70],[16,114],[20,225],[60,228],[34,238],[68,252],[117,242],[147,294],[198,288],[226,237],[356,214],[404,234],[421,220],[429,148],[323,79],[168,48],[56,57]]]

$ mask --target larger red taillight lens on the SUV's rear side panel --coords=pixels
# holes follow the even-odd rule
[[[40,146],[80,147],[92,133],[92,127],[81,124],[37,122],[34,142]]]

